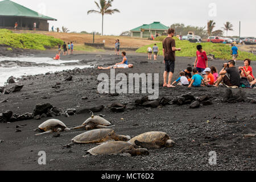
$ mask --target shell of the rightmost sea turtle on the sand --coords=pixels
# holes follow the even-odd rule
[[[138,135],[137,137],[130,139],[128,142],[134,144],[135,140],[138,140],[139,142],[158,143],[158,144],[160,143],[163,146],[166,140],[168,139],[170,139],[170,137],[167,135],[167,133],[164,133],[161,131],[151,131],[151,132]]]

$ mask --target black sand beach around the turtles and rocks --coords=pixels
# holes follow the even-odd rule
[[[52,52],[39,52],[37,56],[52,57]],[[35,56],[35,55],[34,55]],[[53,55],[54,56],[54,55]],[[146,55],[131,55],[129,63],[133,69],[118,69],[115,73],[159,73],[159,100],[162,97],[170,99],[171,105],[156,108],[134,105],[135,100],[148,94],[98,94],[97,76],[110,70],[76,69],[49,75],[27,76],[19,82],[23,84],[20,92],[1,94],[0,113],[6,110],[14,114],[33,113],[36,104],[50,103],[61,110],[104,105],[105,108],[95,115],[105,115],[112,122],[116,133],[135,137],[147,131],[164,131],[176,142],[172,148],[150,150],[148,156],[89,156],[83,158],[86,151],[96,144],[75,144],[64,147],[83,130],[69,131],[53,137],[54,134],[35,136],[33,131],[48,118],[31,119],[13,123],[0,123],[0,170],[255,170],[255,137],[245,137],[255,134],[256,105],[255,89],[232,89],[233,93],[242,90],[246,100],[236,103],[222,102],[226,88],[162,88],[162,73],[164,71],[163,57],[158,61],[147,60]],[[63,60],[84,60],[86,64],[113,65],[121,61],[121,57],[105,53],[80,54],[67,56]],[[177,57],[174,78],[188,64],[193,64],[194,58]],[[223,60],[209,61],[218,71]],[[237,66],[242,65],[237,61]],[[252,61],[251,67],[256,68]],[[72,81],[65,81],[73,76]],[[60,88],[52,88],[59,82]],[[11,85],[9,85],[11,86]],[[191,92],[200,97],[208,94],[212,105],[201,105],[197,109],[189,109],[189,105],[172,104],[177,96]],[[82,97],[88,97],[82,100]],[[133,110],[125,109],[114,113],[109,105],[119,102],[123,105],[134,105]],[[131,108],[130,108],[131,109]],[[68,127],[81,125],[90,113],[77,114],[70,117],[54,117],[63,121]],[[121,119],[122,118],[122,119]],[[16,126],[21,132],[15,132]],[[45,151],[47,164],[38,164],[38,152]],[[217,165],[210,166],[209,152],[216,151]]]

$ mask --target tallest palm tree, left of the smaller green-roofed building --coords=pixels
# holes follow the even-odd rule
[[[110,9],[110,7],[112,7],[112,2],[114,0],[108,0],[108,2],[106,0],[100,0],[100,5],[94,1],[96,3],[96,6],[98,7],[99,11],[96,11],[96,10],[89,10],[87,12],[87,14],[90,14],[90,13],[98,13],[98,14],[101,14],[102,15],[102,32],[101,32],[101,35],[103,35],[103,21],[104,21],[104,15],[105,14],[109,14],[109,15],[112,15],[114,14],[115,12],[118,12],[120,13],[120,11],[118,9]]]

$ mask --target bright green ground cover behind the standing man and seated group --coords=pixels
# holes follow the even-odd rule
[[[159,37],[159,40],[162,40],[162,37]],[[196,46],[201,44],[203,46],[204,51],[207,52],[207,55],[211,53],[215,55],[218,59],[230,60],[232,56],[230,55],[231,47],[226,44],[213,44],[213,43],[191,43],[188,40],[176,40],[176,47],[181,48],[181,51],[176,52],[176,56],[180,57],[195,57],[196,56]],[[163,55],[163,45],[162,43],[156,43],[159,48],[159,54]],[[148,46],[143,46],[137,49],[138,53],[147,53],[148,47],[153,47],[154,44],[150,44]],[[249,52],[238,51],[238,60],[245,60],[249,58],[250,60],[256,60],[256,55]]]

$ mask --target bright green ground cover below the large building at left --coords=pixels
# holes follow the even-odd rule
[[[0,45],[22,49],[45,50],[63,44],[60,39],[40,34],[14,34],[10,30],[0,29]]]

